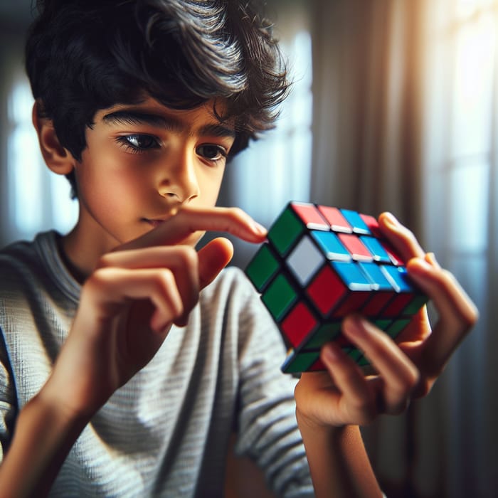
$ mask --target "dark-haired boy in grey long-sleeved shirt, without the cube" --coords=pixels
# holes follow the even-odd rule
[[[0,496],[221,496],[233,429],[278,494],[379,496],[358,424],[428,393],[472,302],[384,214],[440,321],[430,334],[421,312],[398,347],[348,317],[378,375],[328,344],[328,371],[295,386],[255,292],[221,271],[230,243],[194,250],[207,230],[265,238],[213,206],[287,90],[267,24],[233,0],[39,4],[33,124],[80,216],[0,256]]]

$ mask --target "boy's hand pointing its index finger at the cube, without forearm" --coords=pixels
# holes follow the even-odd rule
[[[182,241],[227,231],[262,242],[243,211],[184,208],[146,235],[102,256],[85,281],[73,326],[43,393],[75,416],[90,417],[156,354],[171,324],[186,324],[208,285],[231,260],[225,238],[197,253]]]

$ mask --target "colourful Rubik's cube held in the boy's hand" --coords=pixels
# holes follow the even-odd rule
[[[313,203],[285,207],[245,273],[289,347],[286,373],[324,369],[319,354],[327,341],[369,364],[341,334],[346,314],[359,312],[395,338],[428,300],[375,218]]]

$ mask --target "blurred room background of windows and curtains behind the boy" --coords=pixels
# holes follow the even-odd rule
[[[498,496],[498,1],[268,1],[295,81],[219,203],[270,226],[287,201],[392,211],[480,322],[424,401],[364,430],[389,497]],[[31,127],[31,0],[0,0],[0,245],[77,216]],[[233,264],[254,247],[235,243]],[[0,275],[1,277],[1,275]]]

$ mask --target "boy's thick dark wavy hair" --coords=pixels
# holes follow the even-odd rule
[[[223,98],[226,112],[216,115],[235,122],[233,157],[272,128],[289,86],[259,7],[238,0],[38,0],[26,71],[41,115],[80,160],[98,110],[147,95],[174,109]]]

